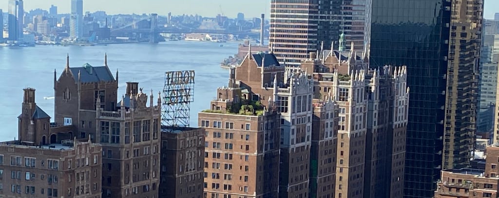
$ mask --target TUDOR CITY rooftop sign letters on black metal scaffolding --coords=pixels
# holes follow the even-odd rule
[[[165,72],[162,125],[189,127],[191,102],[194,102],[194,76],[194,70]]]

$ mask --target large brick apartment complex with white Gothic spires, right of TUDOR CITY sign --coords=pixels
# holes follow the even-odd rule
[[[238,137],[245,130],[277,127],[273,121],[260,123],[274,119],[268,117],[272,115],[269,110],[279,114],[275,118],[280,139],[278,197],[402,197],[409,99],[405,67],[369,70],[368,52],[361,57],[353,50],[310,53],[300,67],[283,67],[272,52],[252,54],[250,46],[249,51],[242,64],[231,69],[229,86],[219,88],[211,108],[199,113],[199,125],[207,130],[207,197],[240,196],[237,190],[222,189],[226,177],[233,175],[222,177],[215,171],[219,161],[224,167],[227,159],[232,162],[230,154],[239,154],[239,150],[232,153],[234,145],[252,148],[247,142],[232,140],[232,131]],[[254,124],[261,128],[251,128]],[[269,138],[264,135],[264,145],[273,142]],[[250,143],[258,146],[258,142]],[[218,151],[223,151],[220,160]],[[224,152],[229,152],[227,159]],[[259,151],[254,154],[260,155]],[[253,163],[248,169],[274,168],[271,159],[249,160]],[[240,189],[246,197],[275,197],[260,193],[257,186],[241,184]]]

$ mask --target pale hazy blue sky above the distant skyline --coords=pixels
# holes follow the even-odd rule
[[[48,10],[50,4],[58,6],[59,13],[69,13],[71,0],[24,0],[24,9]],[[7,5],[7,0],[0,0],[0,9],[7,11]],[[226,16],[235,18],[238,12],[243,12],[249,18],[268,13],[270,0],[83,0],[84,11],[105,10],[108,14],[172,12],[215,16],[220,13],[220,5]],[[494,18],[495,12],[499,12],[499,0],[485,0],[485,18]]]

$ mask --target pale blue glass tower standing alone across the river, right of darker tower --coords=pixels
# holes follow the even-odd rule
[[[80,39],[83,36],[83,0],[71,0],[69,37]]]

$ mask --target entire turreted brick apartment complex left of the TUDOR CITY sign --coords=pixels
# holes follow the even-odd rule
[[[147,96],[139,89],[138,83],[127,83],[127,94],[117,102],[118,72],[116,77],[111,74],[107,56],[104,66],[100,67],[88,63],[82,67],[70,67],[68,56],[63,72],[57,78],[54,71],[53,80],[55,122],[50,122],[50,116],[34,102],[34,89],[25,89],[22,113],[18,117],[19,140],[2,144],[2,148],[8,151],[6,154],[16,152],[14,159],[19,157],[19,161],[14,163],[16,166],[24,165],[23,157],[38,158],[35,160],[38,163],[34,161],[36,168],[51,166],[49,172],[34,170],[33,175],[36,181],[47,177],[46,174],[51,175],[47,178],[52,181],[49,183],[50,190],[36,186],[31,192],[28,185],[31,183],[21,182],[17,180],[20,175],[15,175],[15,181],[6,180],[8,184],[0,179],[3,195],[10,192],[6,192],[3,186],[9,185],[12,191],[15,188],[12,197],[26,197],[25,194],[18,195],[21,190],[22,193],[28,192],[29,196],[36,195],[34,197],[41,196],[41,193],[48,197],[158,197],[161,152],[159,96],[154,101],[152,91]],[[25,147],[20,149],[19,145]],[[51,165],[47,164],[49,162]],[[57,169],[53,169],[54,163],[58,164]],[[2,168],[1,164],[0,173],[10,172],[10,167]],[[16,174],[29,172],[26,168],[14,169],[12,171]],[[38,174],[40,177],[36,177]],[[28,178],[27,174],[25,178]],[[33,180],[31,176],[29,178],[29,181]],[[50,186],[57,182],[57,185]],[[23,189],[26,185],[29,191],[28,188]]]

